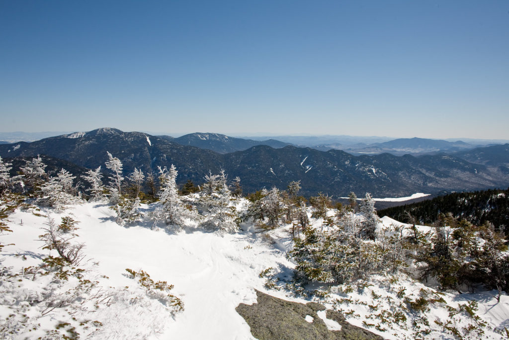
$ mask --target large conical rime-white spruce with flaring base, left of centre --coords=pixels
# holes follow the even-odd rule
[[[161,202],[161,209],[157,211],[159,220],[163,220],[168,225],[183,226],[186,219],[194,219],[194,211],[187,206],[179,196],[177,190],[177,169],[172,166],[167,170],[159,167],[159,182],[161,189],[158,196]]]

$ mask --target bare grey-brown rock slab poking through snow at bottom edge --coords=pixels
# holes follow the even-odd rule
[[[306,304],[275,298],[256,291],[257,303],[241,303],[235,308],[251,327],[251,334],[260,340],[270,339],[383,339],[370,331],[353,326],[337,311],[327,310],[327,319],[342,326],[341,330],[329,330],[317,312],[325,306],[309,302]],[[313,318],[306,321],[306,316]],[[310,320],[308,318],[308,320]]]

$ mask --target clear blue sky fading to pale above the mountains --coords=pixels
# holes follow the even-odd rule
[[[0,0],[0,117],[509,139],[509,1]]]

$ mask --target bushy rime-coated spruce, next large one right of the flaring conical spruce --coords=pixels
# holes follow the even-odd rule
[[[202,192],[202,201],[207,207],[202,226],[210,230],[235,232],[238,230],[238,214],[234,200],[228,188],[227,175],[221,170],[219,175],[205,176],[206,183]]]

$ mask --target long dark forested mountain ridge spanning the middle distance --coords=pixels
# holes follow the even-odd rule
[[[193,138],[204,137],[204,134],[191,135]],[[212,134],[207,135],[209,138],[202,140],[212,143]],[[214,143],[220,139],[217,136],[212,138]],[[102,166],[104,169],[106,151],[109,151],[123,162],[126,174],[137,167],[156,175],[159,166],[174,164],[179,171],[177,181],[180,184],[187,179],[202,184],[209,171],[218,173],[224,169],[230,179],[241,178],[245,193],[272,186],[286,189],[290,181],[300,180],[303,195],[323,192],[338,197],[354,191],[359,196],[371,192],[376,197],[397,197],[415,192],[433,194],[505,188],[509,186],[508,149],[509,144],[505,144],[455,154],[354,156],[335,149],[320,151],[292,145],[282,148],[256,145],[219,153],[181,145],[176,139],[99,128],[32,143],[0,145],[0,156],[12,159],[41,154],[79,167],[95,169]]]

